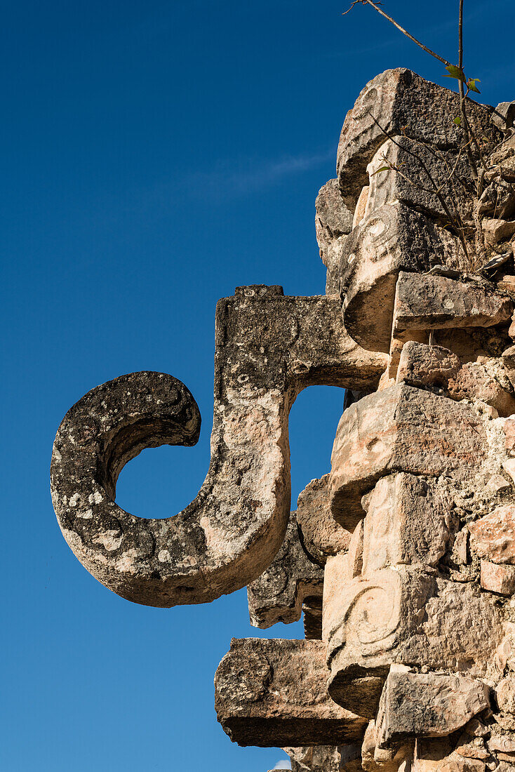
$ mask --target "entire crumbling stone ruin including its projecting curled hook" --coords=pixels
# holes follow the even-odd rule
[[[219,301],[185,510],[115,502],[141,449],[197,441],[180,381],[103,384],[56,436],[59,525],[107,587],[170,607],[248,585],[252,625],[303,615],[304,640],[233,639],[215,675],[225,732],[294,772],[515,769],[515,103],[468,110],[479,185],[455,93],[406,69],[364,87],[317,198],[326,295]],[[346,388],[344,412],[290,513],[288,413],[314,384]]]

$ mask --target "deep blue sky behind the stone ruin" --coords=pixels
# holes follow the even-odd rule
[[[454,59],[458,2],[385,8]],[[178,512],[208,466],[215,302],[249,283],[323,293],[313,204],[364,83],[409,66],[449,85],[371,8],[305,0],[2,3],[2,707],[5,772],[265,772],[216,723],[231,636],[263,633],[246,592],[144,608],[87,574],[61,537],[49,460],[66,410],[135,370],[185,381],[195,449],[149,450],[117,501]],[[466,0],[466,70],[515,99],[513,0]],[[329,469],[341,391],[301,394],[293,497]]]

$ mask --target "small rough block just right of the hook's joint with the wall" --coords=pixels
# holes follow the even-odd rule
[[[396,381],[417,388],[445,388],[460,367],[459,357],[448,348],[410,340],[402,347]]]

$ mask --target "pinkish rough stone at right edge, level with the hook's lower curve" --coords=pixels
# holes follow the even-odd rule
[[[496,506],[489,515],[469,523],[470,548],[492,563],[515,565],[515,506]]]

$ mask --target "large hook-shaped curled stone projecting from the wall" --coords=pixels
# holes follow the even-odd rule
[[[54,443],[53,503],[69,546],[122,597],[202,603],[249,584],[283,542],[290,515],[288,413],[314,384],[371,388],[385,367],[346,334],[337,298],[240,287],[215,324],[212,457],[198,496],[166,520],[115,503],[117,476],[147,447],[195,444],[199,416],[171,376],[130,374],[90,391]],[[373,387],[372,387],[373,388]]]

